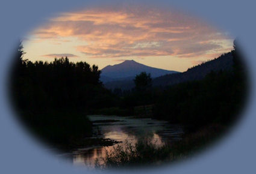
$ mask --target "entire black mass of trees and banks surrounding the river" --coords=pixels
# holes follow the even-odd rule
[[[22,45],[11,73],[10,93],[20,120],[56,148],[69,150],[92,145],[113,145],[92,136],[89,114],[151,116],[182,124],[180,142],[156,147],[149,142],[126,143],[107,154],[98,167],[151,164],[184,158],[211,142],[236,121],[246,98],[246,71],[237,44],[226,55],[233,67],[213,70],[202,79],[167,86],[152,86],[150,74],[140,73],[135,88],[104,88],[101,71],[86,62],[31,62],[23,59]],[[217,59],[216,59],[217,61]],[[225,66],[224,66],[225,67]],[[193,68],[190,69],[193,71]]]

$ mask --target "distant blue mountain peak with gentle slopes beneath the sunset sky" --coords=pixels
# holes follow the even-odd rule
[[[101,81],[103,83],[116,80],[131,80],[134,79],[134,77],[137,74],[143,71],[146,73],[150,73],[151,77],[159,77],[165,74],[178,73],[176,71],[169,71],[160,68],[149,67],[133,60],[127,60],[116,65],[108,65],[101,71]]]

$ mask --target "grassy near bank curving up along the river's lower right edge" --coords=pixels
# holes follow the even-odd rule
[[[194,133],[187,134],[183,140],[159,146],[149,139],[137,143],[125,142],[106,151],[105,158],[96,159],[95,168],[160,166],[183,160],[205,148],[223,131],[220,125],[209,125]]]

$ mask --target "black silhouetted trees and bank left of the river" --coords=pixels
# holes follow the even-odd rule
[[[20,120],[31,132],[55,148],[106,145],[92,136],[87,114],[113,105],[116,97],[99,81],[101,71],[86,62],[31,62],[23,59],[22,45],[11,72],[11,98]],[[110,145],[107,141],[107,145]]]

